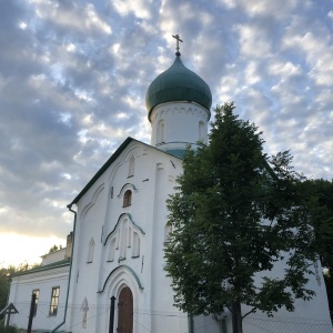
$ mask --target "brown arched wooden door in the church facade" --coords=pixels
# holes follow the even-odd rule
[[[120,333],[133,333],[133,295],[128,286],[119,295],[117,330]]]

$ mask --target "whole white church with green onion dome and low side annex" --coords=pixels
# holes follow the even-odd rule
[[[71,261],[61,252],[13,276],[9,303],[19,314],[10,324],[27,327],[27,304],[38,291],[32,326],[39,332],[232,332],[228,312],[191,317],[174,307],[164,270],[171,231],[165,201],[182,173],[185,148],[208,141],[212,103],[209,85],[183,65],[179,48],[175,56],[147,92],[151,144],[128,138],[69,204]],[[244,332],[333,332],[320,263],[313,270],[312,301],[296,301],[293,313],[281,310],[275,324],[253,314],[244,320]],[[304,324],[316,326],[306,331]]]

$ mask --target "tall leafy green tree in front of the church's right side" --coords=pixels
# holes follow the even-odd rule
[[[292,157],[264,154],[262,133],[234,108],[218,107],[209,144],[183,158],[178,191],[168,200],[173,232],[165,269],[179,309],[194,315],[230,309],[240,333],[248,314],[293,311],[295,299],[314,295],[306,283],[315,239]],[[285,271],[275,275],[279,262]]]

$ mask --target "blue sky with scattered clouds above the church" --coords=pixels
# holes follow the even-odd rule
[[[213,107],[332,180],[333,0],[0,1],[0,266],[64,245],[67,205],[128,137],[150,143],[145,91],[175,33]]]

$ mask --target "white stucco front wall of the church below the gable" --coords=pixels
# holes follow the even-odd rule
[[[132,157],[134,174],[129,176]],[[108,309],[110,297],[118,297],[121,287],[128,285],[133,293],[134,311],[178,313],[172,306],[171,281],[163,270],[163,243],[168,215],[165,200],[173,192],[175,176],[180,172],[181,160],[132,141],[81,198],[78,203],[75,261],[70,293],[74,306],[80,306],[87,297],[91,309]],[[123,208],[123,193],[127,189],[132,190],[132,204]],[[120,259],[120,242],[119,249],[114,251],[114,260],[108,261],[111,240],[119,239],[123,223],[127,223],[128,230],[125,259]],[[132,258],[134,232],[140,236],[138,258]],[[95,243],[93,261],[88,263],[92,238]],[[72,332],[75,332],[73,326],[77,317],[78,313],[72,313],[69,320]],[[108,326],[105,317],[109,317],[108,312],[104,317],[98,316],[91,321],[103,331]],[[157,326],[161,326],[157,323],[159,320],[159,316],[154,316],[145,324],[153,332],[160,332]],[[178,324],[185,322],[186,325],[185,316],[176,321]],[[174,323],[170,325],[174,326]],[[134,326],[134,332],[141,332],[140,330],[142,329]],[[161,330],[167,332],[168,326],[163,324]],[[78,329],[77,332],[79,331]]]

